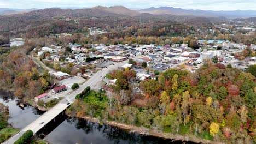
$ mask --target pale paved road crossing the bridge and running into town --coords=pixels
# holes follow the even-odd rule
[[[33,133],[37,133],[37,131],[42,129],[44,125],[49,123],[52,119],[54,119],[57,115],[59,115],[63,110],[65,110],[69,105],[71,105],[75,100],[75,96],[81,93],[84,90],[84,88],[86,88],[87,86],[94,88],[96,83],[98,81],[101,81],[102,77],[104,77],[109,70],[117,69],[118,67],[123,66],[127,62],[128,61],[116,63],[115,65],[110,65],[109,67],[98,71],[94,76],[92,76],[76,91],[72,92],[69,95],[66,95],[65,99],[62,99],[59,104],[55,105],[49,111],[45,112],[44,115],[40,116],[38,119],[36,119],[36,121],[32,122],[30,125],[22,129],[18,134],[11,137],[8,141],[5,141],[4,144],[13,144],[16,140],[19,139],[20,136],[22,136],[22,134],[25,133],[26,130],[32,130]]]

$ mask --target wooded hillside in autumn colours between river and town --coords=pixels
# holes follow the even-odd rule
[[[250,73],[218,63],[194,74],[169,69],[142,81],[140,105],[131,104],[135,71],[116,70],[109,76],[117,78],[113,97],[86,91],[67,113],[226,143],[255,142],[256,83]]]

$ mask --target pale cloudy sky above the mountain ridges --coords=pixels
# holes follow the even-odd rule
[[[123,5],[130,9],[174,7],[201,10],[256,10],[256,0],[0,0],[0,8],[15,9],[90,8],[97,5]]]

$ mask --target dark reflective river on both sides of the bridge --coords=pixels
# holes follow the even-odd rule
[[[30,105],[19,106],[19,100],[8,92],[0,91],[0,103],[9,106],[10,118],[8,122],[15,128],[24,128],[35,119],[43,115],[43,111]],[[183,143],[172,142],[152,136],[129,133],[109,125],[100,125],[80,118],[70,118],[61,113],[54,121],[48,123],[38,131],[37,136],[53,144],[70,143]],[[188,142],[190,143],[190,142]]]

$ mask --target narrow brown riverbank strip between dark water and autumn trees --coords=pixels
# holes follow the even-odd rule
[[[69,116],[69,117],[73,117],[73,116]],[[94,122],[94,123],[103,122],[104,124],[110,125],[112,127],[118,127],[122,130],[130,131],[132,133],[139,133],[141,135],[159,137],[161,139],[170,139],[171,141],[184,141],[184,142],[191,141],[191,142],[195,142],[195,143],[224,144],[223,142],[203,140],[203,139],[200,139],[200,138],[195,137],[195,136],[173,135],[171,133],[162,133],[162,132],[159,132],[159,131],[149,130],[149,129],[146,129],[146,128],[140,128],[140,127],[127,125],[127,124],[122,124],[122,123],[116,123],[116,122],[113,122],[113,121],[106,121],[106,120],[100,121],[97,118],[88,117],[88,116],[78,117],[78,118],[83,118],[83,119],[86,119],[86,120]]]

